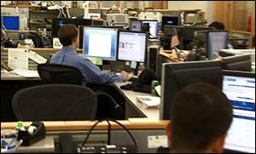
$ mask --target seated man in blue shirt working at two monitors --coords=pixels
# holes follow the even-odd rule
[[[102,72],[90,60],[76,52],[75,48],[78,41],[78,30],[76,26],[71,24],[62,26],[57,35],[62,44],[62,48],[59,52],[53,54],[50,63],[77,67],[83,74],[84,84],[125,82],[127,79],[128,73],[126,71],[122,71],[119,76]],[[101,45],[101,43],[98,45]]]

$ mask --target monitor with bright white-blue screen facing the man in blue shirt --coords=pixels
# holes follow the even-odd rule
[[[83,54],[102,60],[116,60],[117,40],[117,29],[84,27]]]

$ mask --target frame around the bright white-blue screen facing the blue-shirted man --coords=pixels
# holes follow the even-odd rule
[[[100,56],[89,56],[85,54],[85,41],[84,41],[84,30],[85,29],[91,29],[91,30],[108,30],[108,31],[115,31],[116,32],[116,42],[115,42],[115,57],[114,59],[111,57],[100,57]],[[92,26],[84,26],[83,27],[83,55],[86,58],[101,58],[102,60],[109,60],[109,61],[116,61],[117,60],[117,55],[118,55],[118,29],[117,28],[102,28],[102,27],[92,27]]]

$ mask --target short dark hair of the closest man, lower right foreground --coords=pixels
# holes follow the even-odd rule
[[[221,89],[193,83],[172,100],[172,150],[204,152],[232,122],[232,106]]]

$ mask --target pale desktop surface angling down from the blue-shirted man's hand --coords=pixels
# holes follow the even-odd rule
[[[151,95],[151,94],[140,93],[140,92],[135,92],[135,91],[132,91],[132,90],[125,90],[125,89],[121,89],[120,88],[120,86],[125,85],[127,83],[129,83],[129,82],[126,82],[126,83],[114,83],[114,85],[117,88],[119,88],[119,91],[124,94],[126,99],[130,100],[132,105],[136,106],[137,109],[142,111],[145,116],[147,116],[148,118],[160,119],[160,109],[147,109],[147,108],[143,108],[142,106],[139,106],[137,104],[137,98],[136,98],[137,95]]]

